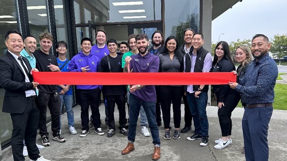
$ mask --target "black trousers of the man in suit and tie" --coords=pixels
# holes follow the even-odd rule
[[[37,160],[40,158],[40,152],[36,146],[39,110],[35,100],[26,100],[26,108],[23,113],[10,115],[13,124],[11,138],[13,159],[15,161],[25,161],[23,156],[23,140],[25,139],[29,158]]]

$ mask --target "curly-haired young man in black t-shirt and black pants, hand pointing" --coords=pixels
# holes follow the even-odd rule
[[[53,36],[50,33],[42,33],[39,36],[40,49],[36,50],[33,54],[36,58],[36,68],[40,72],[61,72],[56,57],[50,54],[50,48],[52,46]],[[42,138],[43,146],[49,146],[49,133],[47,131],[46,119],[47,119],[47,107],[50,110],[53,132],[53,140],[58,142],[65,142],[66,139],[60,133],[60,107],[61,100],[56,85],[38,85],[39,88],[39,134]]]

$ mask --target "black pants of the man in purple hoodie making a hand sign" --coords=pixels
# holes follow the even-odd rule
[[[101,127],[99,100],[101,98],[100,88],[92,90],[77,89],[79,102],[81,104],[82,130],[89,130],[89,105],[91,106],[92,118],[95,128]]]

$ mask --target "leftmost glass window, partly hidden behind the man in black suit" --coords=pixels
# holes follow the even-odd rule
[[[7,52],[5,45],[5,34],[11,29],[18,29],[18,12],[14,0],[0,0],[0,57]],[[10,114],[2,112],[5,89],[0,85],[0,142],[3,143],[11,139],[12,120]],[[1,151],[1,149],[0,149]]]

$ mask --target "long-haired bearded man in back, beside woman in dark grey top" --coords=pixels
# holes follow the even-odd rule
[[[161,31],[157,30],[153,32],[152,37],[152,44],[153,47],[150,49],[150,54],[158,56],[159,54],[163,53],[165,50],[164,44],[165,40]],[[157,126],[161,126],[161,103],[160,103],[160,86],[155,86],[155,91],[157,94],[157,101],[155,105],[155,112],[157,116]]]

